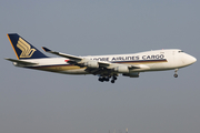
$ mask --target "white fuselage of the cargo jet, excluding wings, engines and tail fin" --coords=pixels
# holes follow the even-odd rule
[[[114,64],[133,64],[140,66],[140,69],[130,70],[130,73],[179,69],[190,65],[197,61],[196,58],[178,49],[156,50],[133,54],[90,55],[82,58],[101,62],[110,62],[112,63],[110,68],[114,68]],[[89,74],[87,71],[84,71],[86,68],[69,64],[69,60],[66,58],[29,59],[26,61],[38,64],[23,68],[66,74]],[[14,65],[22,66],[18,64]]]

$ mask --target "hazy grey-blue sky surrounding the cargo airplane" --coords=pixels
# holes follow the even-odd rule
[[[119,76],[14,68],[7,33],[73,55],[181,49],[199,59],[199,0],[1,0],[1,133],[199,133],[199,61]],[[48,54],[49,57],[56,57]]]

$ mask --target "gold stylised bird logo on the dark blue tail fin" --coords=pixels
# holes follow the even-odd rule
[[[31,45],[21,38],[19,38],[17,47],[22,51],[20,58],[30,58],[36,51],[36,49],[31,49]]]

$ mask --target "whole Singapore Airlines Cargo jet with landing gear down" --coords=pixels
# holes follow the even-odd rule
[[[50,58],[19,34],[8,33],[7,35],[18,60],[9,58],[6,60],[11,61],[14,66],[62,74],[93,74],[99,76],[100,82],[111,81],[111,83],[114,83],[120,74],[128,78],[139,78],[141,72],[166,70],[174,70],[173,76],[178,78],[179,69],[197,61],[194,57],[179,49],[153,50],[131,54],[77,57],[42,47],[44,52],[60,57]]]

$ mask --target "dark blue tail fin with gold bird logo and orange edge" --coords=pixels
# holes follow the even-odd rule
[[[48,58],[17,33],[7,34],[18,59]]]

